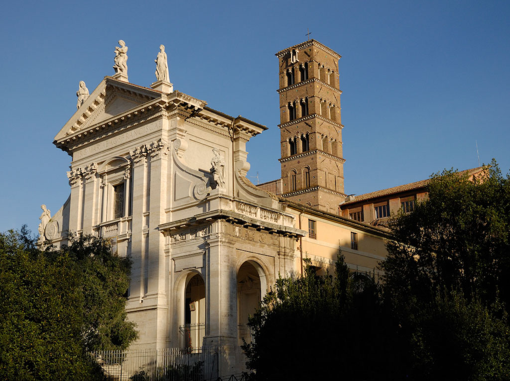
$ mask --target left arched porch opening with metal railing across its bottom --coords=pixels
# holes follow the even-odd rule
[[[196,274],[188,281],[184,301],[181,347],[198,351],[206,334],[206,286],[200,275]]]

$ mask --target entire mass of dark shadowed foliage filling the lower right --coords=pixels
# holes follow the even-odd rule
[[[510,178],[444,171],[391,228],[380,285],[341,255],[277,280],[249,322],[252,379],[510,379]]]

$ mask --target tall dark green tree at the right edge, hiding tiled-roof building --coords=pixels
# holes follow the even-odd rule
[[[391,227],[385,305],[408,379],[509,379],[508,177],[494,161],[475,178],[444,171]]]

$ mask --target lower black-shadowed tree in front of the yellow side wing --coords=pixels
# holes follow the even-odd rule
[[[339,256],[333,275],[279,278],[249,324],[243,346],[257,380],[396,379],[398,337],[388,330],[373,277],[349,272]],[[381,370],[388,377],[381,377]]]

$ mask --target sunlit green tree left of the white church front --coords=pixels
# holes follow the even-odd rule
[[[87,352],[137,335],[124,312],[130,268],[99,238],[41,251],[24,228],[0,233],[0,379],[101,379]]]

